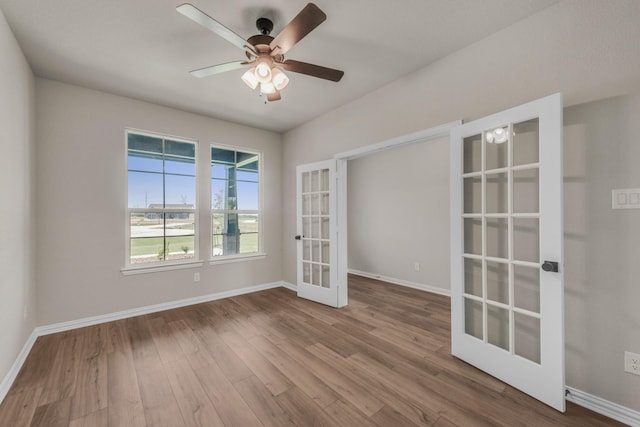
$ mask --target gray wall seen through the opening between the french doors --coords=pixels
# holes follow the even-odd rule
[[[448,138],[350,160],[347,173],[349,268],[449,292]]]

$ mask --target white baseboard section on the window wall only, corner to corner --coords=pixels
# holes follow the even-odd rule
[[[85,326],[97,325],[99,323],[112,322],[114,320],[126,319],[128,317],[141,316],[143,314],[156,313],[158,311],[171,310],[173,308],[186,307],[203,302],[215,301],[223,298],[235,297],[252,292],[264,291],[282,286],[282,282],[272,282],[263,285],[248,286],[246,288],[232,289],[229,291],[216,292],[214,294],[201,295],[192,298],[185,298],[177,301],[169,301],[160,304],[147,305],[144,307],[132,308],[129,310],[117,311],[115,313],[102,314],[99,316],[85,317],[84,319],[70,320],[68,322],[54,323],[51,325],[39,326],[36,328],[38,336],[54,334],[56,332],[69,331]]]

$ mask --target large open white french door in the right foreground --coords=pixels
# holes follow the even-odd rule
[[[564,412],[562,97],[451,131],[451,349]]]

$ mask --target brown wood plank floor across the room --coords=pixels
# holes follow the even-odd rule
[[[453,358],[449,299],[350,277],[331,309],[284,288],[38,338],[0,426],[611,426]]]

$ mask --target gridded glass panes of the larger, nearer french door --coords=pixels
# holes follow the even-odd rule
[[[465,333],[540,363],[538,119],[464,139]]]

